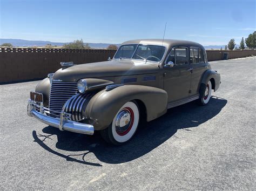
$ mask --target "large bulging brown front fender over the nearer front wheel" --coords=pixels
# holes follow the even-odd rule
[[[151,121],[167,111],[167,92],[142,85],[123,85],[95,94],[85,108],[84,116],[96,130],[108,127],[119,109],[131,100],[140,100],[146,108],[146,120]]]

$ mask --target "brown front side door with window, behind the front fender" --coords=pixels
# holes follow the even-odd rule
[[[173,62],[173,67],[167,65]],[[168,103],[185,99],[190,90],[190,65],[188,64],[188,48],[173,47],[166,59],[164,70],[164,90],[168,94]]]

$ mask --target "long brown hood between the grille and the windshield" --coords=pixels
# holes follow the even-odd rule
[[[136,60],[110,60],[106,62],[79,64],[59,69],[53,76],[55,80],[77,81],[82,78],[100,78],[155,73],[158,63],[145,63]]]

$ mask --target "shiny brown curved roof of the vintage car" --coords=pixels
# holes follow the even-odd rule
[[[151,45],[163,45],[167,48],[173,47],[173,46],[196,46],[200,47],[201,49],[204,49],[204,46],[202,46],[199,43],[188,41],[188,40],[175,40],[175,39],[136,39],[136,40],[129,40],[122,45],[125,44],[151,44]]]

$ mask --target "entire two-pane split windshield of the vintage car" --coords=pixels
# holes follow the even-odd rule
[[[137,46],[138,44],[120,46],[117,53],[114,55],[114,59],[132,58],[137,60],[160,62],[165,53],[165,47],[163,46],[142,44],[140,44],[138,48]]]

